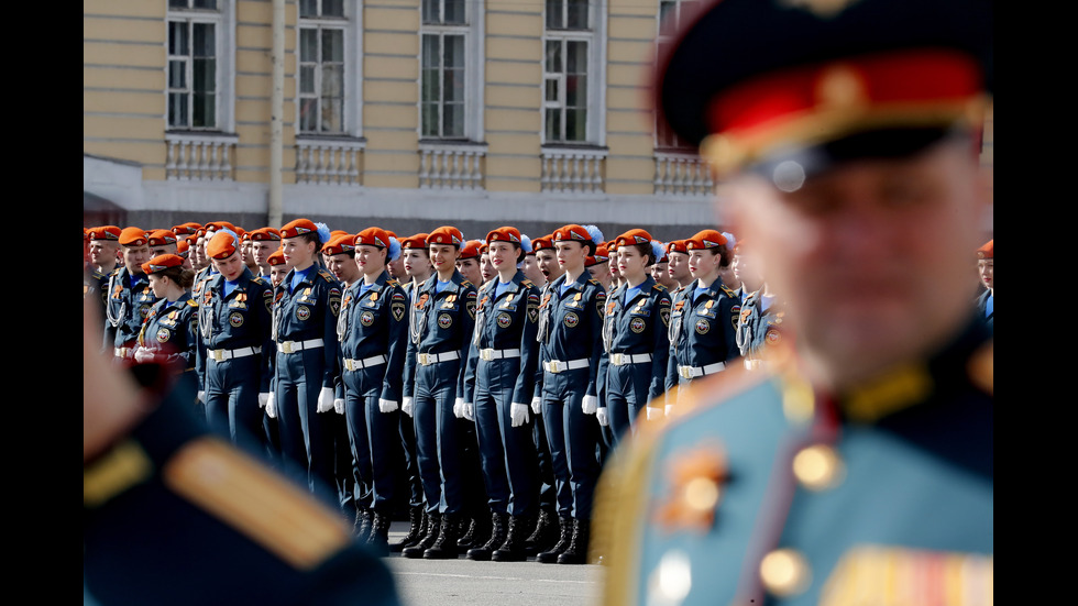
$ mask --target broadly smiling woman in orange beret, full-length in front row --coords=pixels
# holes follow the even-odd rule
[[[419,475],[427,497],[428,532],[405,548],[406,558],[457,558],[464,509],[463,444],[457,415],[464,408],[464,366],[475,324],[475,286],[457,271],[464,238],[441,227],[427,236],[435,275],[415,294],[405,357],[403,409],[416,427]]]

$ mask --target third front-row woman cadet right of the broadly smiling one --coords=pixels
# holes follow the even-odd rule
[[[617,236],[615,243],[623,284],[607,297],[603,344],[608,363],[606,407],[616,447],[640,410],[666,389],[670,293],[648,271],[662,255],[651,234],[634,229]],[[661,414],[661,403],[647,406],[649,420]]]

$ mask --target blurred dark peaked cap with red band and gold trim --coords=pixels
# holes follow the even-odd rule
[[[820,146],[809,168],[909,155],[983,123],[988,0],[718,0],[682,23],[656,110],[721,175]]]

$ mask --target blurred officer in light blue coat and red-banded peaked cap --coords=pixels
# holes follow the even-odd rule
[[[792,346],[618,451],[606,604],[992,603],[991,31],[981,1],[722,0],[671,45],[662,118],[707,137]]]

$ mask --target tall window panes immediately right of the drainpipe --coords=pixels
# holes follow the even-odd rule
[[[300,0],[300,133],[344,133],[346,27],[344,0]]]

